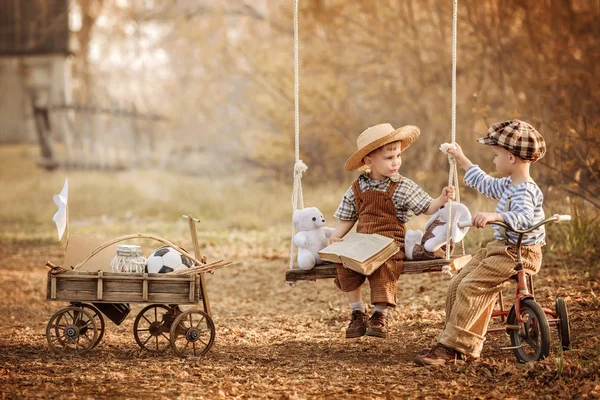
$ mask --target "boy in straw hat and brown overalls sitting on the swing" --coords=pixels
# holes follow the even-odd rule
[[[419,128],[412,125],[399,129],[394,129],[390,124],[370,127],[360,134],[356,141],[358,150],[344,165],[346,171],[366,171],[348,189],[334,214],[339,223],[332,234],[332,241],[343,240],[343,236],[358,221],[357,232],[391,237],[400,247],[398,253],[369,276],[338,265],[335,284],[347,294],[352,309],[346,338],[365,334],[387,337],[386,314],[388,307],[396,306],[406,222],[411,214],[431,215],[448,199],[454,198],[453,187],[445,187],[442,194],[433,199],[416,183],[398,174],[402,153],[419,134]],[[371,318],[368,318],[361,299],[360,290],[365,279],[369,280],[371,303],[374,304]]]

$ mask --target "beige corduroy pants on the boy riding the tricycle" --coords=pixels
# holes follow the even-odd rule
[[[516,274],[516,259],[515,245],[494,240],[452,278],[440,343],[471,357],[480,356],[496,297],[502,284]],[[542,245],[522,246],[521,260],[529,275],[537,274]]]

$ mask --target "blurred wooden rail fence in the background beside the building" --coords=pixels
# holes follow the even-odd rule
[[[157,141],[167,129],[159,115],[130,109],[59,104],[34,106],[40,165],[46,169],[119,170],[159,162]]]

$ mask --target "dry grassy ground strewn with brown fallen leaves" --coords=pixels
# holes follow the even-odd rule
[[[45,327],[66,304],[45,300],[43,265],[62,262],[50,199],[60,190],[64,172],[31,167],[33,155],[31,148],[0,148],[2,193],[7,194],[0,199],[3,398],[600,397],[600,279],[588,265],[557,259],[546,263],[536,280],[536,298],[544,306],[552,308],[558,296],[567,300],[571,351],[558,351],[553,330],[550,357],[521,365],[498,349],[508,342],[506,335],[496,335],[479,362],[419,368],[412,358],[442,326],[445,277],[402,276],[390,338],[345,340],[348,306],[331,281],[295,288],[284,283],[289,188],[235,187],[160,172],[69,173],[72,230],[107,238],[153,231],[185,247],[189,234],[180,214],[199,216],[204,254],[242,260],[207,277],[217,329],[214,347],[196,360],[179,359],[171,351],[140,352],[132,325],[142,305],[133,305],[121,326],[107,321],[102,343],[89,354],[54,355]],[[5,161],[18,168],[8,171]],[[306,203],[322,204],[330,213],[343,190],[307,191]],[[475,236],[472,245],[478,240],[484,238]]]

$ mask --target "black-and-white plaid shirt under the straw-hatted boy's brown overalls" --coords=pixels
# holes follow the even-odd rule
[[[367,190],[378,190],[386,192],[390,187],[392,180],[385,178],[380,181],[370,179],[366,174],[358,177],[358,187],[361,192]],[[419,215],[429,208],[433,198],[428,195],[419,185],[408,178],[402,177],[400,184],[392,195],[392,201],[396,205],[396,216],[402,222],[408,222],[412,214]],[[358,219],[358,210],[356,208],[356,196],[352,186],[346,192],[340,205],[338,206],[335,218],[356,221]]]

